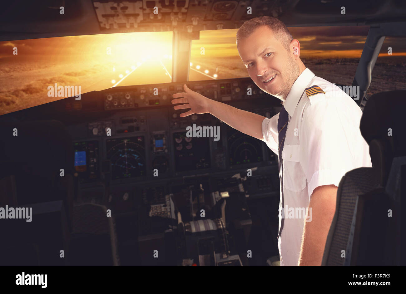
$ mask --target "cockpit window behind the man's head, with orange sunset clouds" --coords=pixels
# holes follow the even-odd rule
[[[369,26],[289,27],[300,42],[300,58],[329,82],[352,85]],[[192,41],[189,80],[248,77],[238,55],[238,29],[200,32]]]

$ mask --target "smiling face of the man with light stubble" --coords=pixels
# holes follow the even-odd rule
[[[299,65],[293,51],[279,42],[268,26],[257,28],[251,36],[240,40],[238,52],[248,74],[264,92],[283,101],[299,76]],[[274,77],[269,82],[264,82]]]

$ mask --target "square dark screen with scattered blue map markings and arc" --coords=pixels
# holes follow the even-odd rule
[[[145,139],[143,136],[106,140],[107,159],[112,179],[145,176]]]

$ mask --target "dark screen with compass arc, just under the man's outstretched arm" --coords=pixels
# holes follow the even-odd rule
[[[230,166],[263,161],[260,140],[229,128],[227,142]]]

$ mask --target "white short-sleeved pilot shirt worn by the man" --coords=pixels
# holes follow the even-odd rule
[[[305,89],[314,85],[325,93],[307,97]],[[281,266],[297,266],[313,190],[323,185],[338,187],[346,172],[372,164],[369,146],[359,129],[362,111],[339,87],[306,68],[283,105],[289,120],[282,151],[285,220],[278,247]],[[262,121],[263,141],[276,155],[278,118],[276,114]],[[279,211],[281,207],[282,197]],[[307,221],[311,221],[311,213]]]

